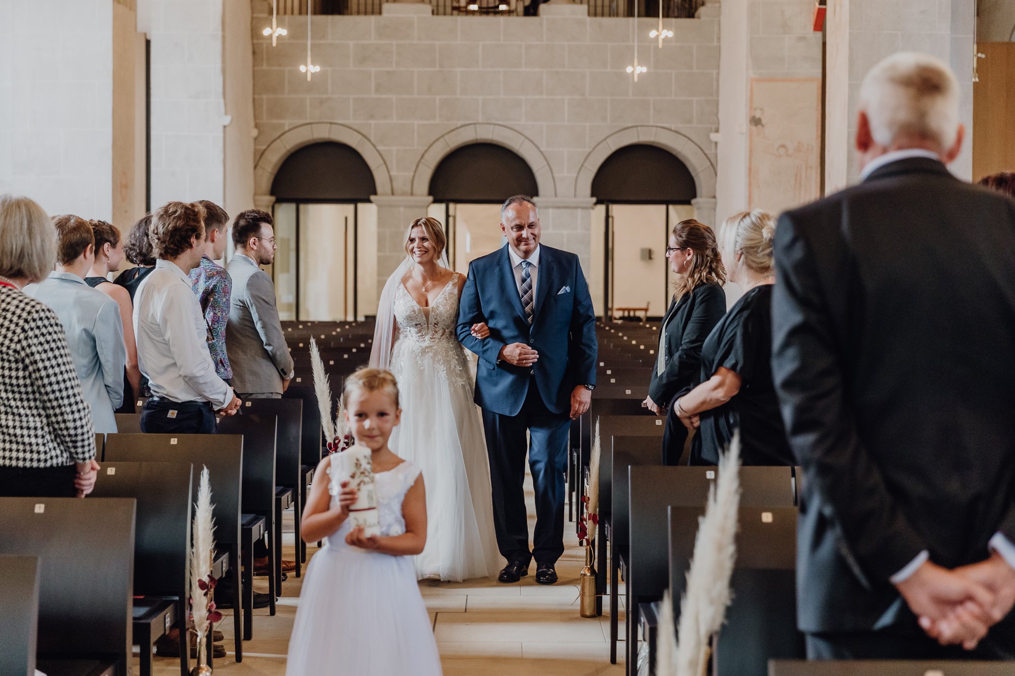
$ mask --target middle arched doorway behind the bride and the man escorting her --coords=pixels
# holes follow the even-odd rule
[[[536,177],[517,153],[494,143],[453,150],[433,170],[427,213],[445,224],[448,260],[464,272],[501,246],[500,204],[512,195],[539,193]]]

